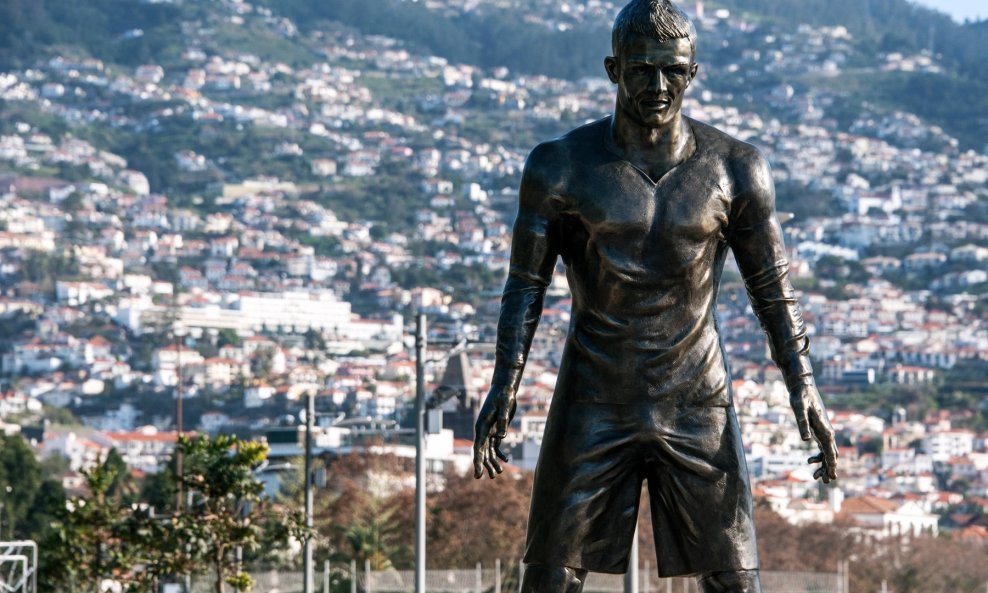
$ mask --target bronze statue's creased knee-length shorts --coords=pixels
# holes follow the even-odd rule
[[[554,401],[525,562],[623,573],[648,481],[662,576],[756,569],[734,408]]]

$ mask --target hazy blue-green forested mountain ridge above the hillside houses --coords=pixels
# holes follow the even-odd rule
[[[685,3],[692,5],[692,3]],[[536,1],[454,3],[452,0],[404,2],[399,0],[258,0],[276,16],[287,17],[303,31],[335,23],[365,34],[396,38],[409,49],[436,55],[453,63],[487,69],[507,67],[533,75],[578,79],[601,76],[601,59],[609,53],[611,15],[589,10],[580,18],[564,14],[557,4]],[[470,9],[465,8],[469,6]],[[567,5],[569,6],[569,5]],[[582,6],[576,3],[573,6]],[[958,24],[947,15],[906,0],[717,0],[708,12],[727,8],[769,32],[841,26],[853,39],[850,62],[864,68],[834,81],[806,82],[799,78],[767,77],[776,84],[802,84],[803,90],[824,92],[843,85],[849,103],[870,102],[889,110],[914,113],[957,137],[965,148],[988,150],[988,21]],[[59,52],[92,55],[111,64],[134,67],[180,53],[180,16],[205,15],[210,3],[184,0],[145,3],[135,0],[11,0],[0,4],[0,69],[30,67]],[[519,11],[524,10],[523,18]],[[566,20],[569,19],[569,20]],[[291,56],[311,58],[303,36],[279,40]],[[243,39],[243,47],[257,39]],[[758,50],[753,36],[746,47],[731,52]],[[930,52],[930,48],[933,52]],[[720,48],[700,44],[699,59],[710,59]],[[924,54],[942,67],[937,72],[881,70],[879,56]],[[717,84],[735,94],[747,92],[757,73],[719,77]],[[764,78],[764,77],[763,77]],[[731,88],[734,85],[735,88]],[[757,103],[757,102],[756,102]],[[757,108],[758,105],[748,106]],[[767,107],[765,108],[767,109]]]

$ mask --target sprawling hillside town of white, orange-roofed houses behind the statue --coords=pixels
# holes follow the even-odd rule
[[[0,135],[3,430],[39,458],[64,458],[71,491],[112,448],[134,472],[161,471],[178,430],[267,439],[272,458],[294,458],[312,393],[318,454],[373,446],[412,458],[413,334],[425,313],[427,390],[457,389],[428,437],[428,467],[468,471],[521,168],[538,141],[607,115],[611,85],[603,71],[574,81],[485,70],[342,26],[303,34],[260,5],[215,4],[212,21],[182,23],[167,63],[125,70],[62,55],[0,72],[0,99],[16,108]],[[565,30],[616,11],[563,6],[533,22]],[[736,51],[701,68],[684,109],[772,163],[841,443],[840,479],[823,487],[731,260],[719,327],[756,498],[793,523],[988,542],[984,374],[970,381],[980,409],[889,403],[986,368],[988,220],[971,214],[988,200],[988,156],[909,113],[865,109],[842,127],[836,91],[759,87],[763,107],[745,108],[743,82],[721,80],[935,72],[937,56],[862,66],[842,27],[784,32],[685,7],[701,39]],[[311,59],[252,54],[237,43],[247,35],[304,42]],[[182,128],[195,142],[155,174],[101,143],[101,128],[169,147],[168,130]],[[252,134],[248,150],[263,152],[210,140],[226,131]],[[159,191],[161,171],[173,191]],[[391,178],[400,183],[375,185]],[[381,217],[400,210],[410,222],[365,217],[375,200]],[[521,471],[538,457],[569,298],[560,264],[508,438]],[[450,355],[461,338],[480,346]],[[856,407],[862,393],[889,399]],[[278,476],[266,483],[276,490]]]

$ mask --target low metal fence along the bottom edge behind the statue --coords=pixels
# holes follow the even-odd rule
[[[349,567],[333,567],[350,579]],[[331,590],[324,588],[324,573],[314,575],[313,593]],[[340,575],[340,573],[336,573]],[[301,593],[301,572],[252,572],[253,593]],[[474,568],[455,570],[427,570],[427,593],[514,593],[521,574],[510,574],[504,569],[500,574],[494,569]],[[647,565],[639,571],[639,593],[699,593],[692,578],[662,579]],[[772,572],[761,571],[763,593],[844,593],[841,575],[836,572]],[[334,579],[336,582],[336,579]],[[412,593],[415,590],[415,571],[384,570],[358,571],[354,589],[359,593]],[[350,591],[350,588],[346,588]],[[584,593],[620,593],[624,591],[624,576],[590,573],[583,588]],[[200,577],[195,580],[192,593],[211,593],[211,582]],[[338,590],[337,590],[338,591]]]

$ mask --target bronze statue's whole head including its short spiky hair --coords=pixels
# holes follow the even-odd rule
[[[639,126],[677,121],[696,76],[696,28],[669,0],[632,0],[614,20],[613,56],[604,59],[618,85],[617,114]]]

